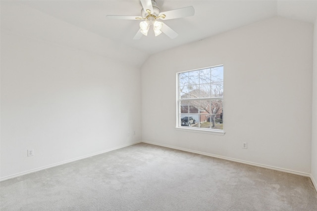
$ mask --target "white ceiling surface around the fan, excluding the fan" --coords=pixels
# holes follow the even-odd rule
[[[140,16],[139,0],[24,0],[21,3],[148,54],[274,16],[314,24],[317,14],[316,0],[157,0],[161,11],[193,6],[195,15],[164,21],[179,34],[176,39],[164,34],[155,37],[150,30],[148,36],[133,40],[140,21],[108,19],[106,15]]]

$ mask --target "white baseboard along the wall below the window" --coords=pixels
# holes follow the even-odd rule
[[[153,145],[158,145],[158,146],[162,146],[162,147],[167,147],[167,148],[171,148],[171,149],[178,149],[178,150],[185,151],[185,152],[192,152],[192,153],[196,153],[196,154],[200,154],[200,155],[206,155],[206,156],[209,156],[209,157],[220,158],[220,159],[224,159],[224,160],[228,160],[228,161],[234,161],[234,162],[237,162],[237,163],[248,164],[248,165],[251,165],[251,166],[262,167],[262,168],[265,168],[265,169],[272,169],[272,170],[278,170],[278,171],[283,171],[283,172],[287,172],[287,173],[297,174],[297,175],[301,175],[301,176],[307,176],[307,177],[311,177],[312,178],[310,173],[305,173],[305,172],[300,172],[300,171],[295,171],[295,170],[289,170],[289,169],[282,169],[282,168],[277,168],[277,167],[271,167],[271,166],[257,164],[257,163],[248,162],[248,161],[243,161],[243,160],[239,160],[239,159],[228,158],[228,157],[224,157],[224,156],[213,155],[213,154],[210,154],[210,153],[205,153],[205,152],[200,152],[200,151],[195,151],[195,150],[190,150],[190,149],[184,149],[184,148],[181,148],[181,147],[174,147],[174,146],[169,146],[169,145],[159,144],[159,143],[154,143],[154,142],[149,142],[149,141],[141,141],[141,142],[148,143],[148,144],[153,144]],[[315,185],[315,187],[317,187],[316,183],[314,185]]]

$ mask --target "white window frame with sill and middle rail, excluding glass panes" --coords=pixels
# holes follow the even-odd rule
[[[179,97],[179,75],[182,73],[188,73],[192,71],[197,71],[197,70],[204,70],[204,69],[209,69],[209,68],[216,68],[216,67],[224,67],[223,65],[216,65],[216,66],[211,66],[211,67],[205,67],[205,68],[199,68],[195,70],[188,70],[188,71],[183,71],[183,72],[178,72],[176,73],[176,129],[181,130],[181,131],[188,131],[188,132],[199,132],[199,133],[208,133],[208,134],[216,134],[216,135],[224,135],[225,131],[223,129],[212,129],[212,128],[201,128],[201,127],[181,127],[180,126],[180,102],[181,101],[191,101],[191,100],[212,100],[212,99],[222,99],[222,108],[224,106],[224,97],[209,97],[209,98],[193,98],[193,99],[180,99]],[[223,73],[224,74],[224,73]],[[222,118],[224,118],[222,116]],[[223,122],[224,119],[223,119]]]

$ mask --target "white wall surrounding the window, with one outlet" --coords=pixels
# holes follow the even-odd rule
[[[143,140],[310,173],[312,35],[312,24],[276,17],[151,56]],[[226,134],[176,130],[175,73],[220,64]]]

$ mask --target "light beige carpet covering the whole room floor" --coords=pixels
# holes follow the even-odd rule
[[[317,211],[308,177],[136,144],[0,182],[1,211]]]

